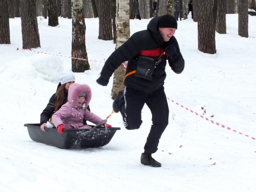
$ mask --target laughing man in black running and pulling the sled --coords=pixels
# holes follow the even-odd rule
[[[121,112],[124,126],[128,130],[140,128],[141,110],[145,104],[150,109],[152,126],[140,163],[151,167],[161,167],[152,153],[157,151],[169,119],[164,92],[166,61],[177,74],[183,71],[185,65],[179,44],[173,36],[176,29],[177,21],[171,15],[153,18],[147,30],[134,33],[109,56],[96,80],[98,84],[107,86],[114,71],[128,60],[126,75],[130,75],[125,78],[124,90],[116,96],[113,109],[116,113]]]

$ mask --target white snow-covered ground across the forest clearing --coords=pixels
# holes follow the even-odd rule
[[[69,150],[32,141],[23,125],[39,123],[60,74],[71,71],[71,20],[59,18],[52,28],[38,19],[41,48],[33,50],[67,56],[60,57],[17,50],[21,22],[10,19],[12,47],[0,45],[0,191],[255,191],[256,17],[249,15],[249,38],[238,36],[237,17],[227,15],[227,34],[216,33],[214,55],[198,51],[197,23],[178,21],[175,37],[185,69],[177,75],[166,67],[169,125],[153,154],[161,168],[140,164],[151,126],[147,106],[139,130],[126,130],[120,113],[113,114],[108,124],[121,130],[102,148]],[[76,82],[91,86],[91,110],[105,118],[112,111],[113,80],[102,87],[96,79],[115,45],[98,39],[98,18],[85,22],[91,70],[76,73]],[[131,34],[148,22],[131,20]]]

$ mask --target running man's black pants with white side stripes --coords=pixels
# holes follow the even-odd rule
[[[141,110],[145,103],[152,114],[152,126],[144,146],[144,152],[152,154],[157,151],[161,135],[168,125],[169,108],[164,87],[152,93],[125,87],[124,98],[120,102],[119,108],[125,128],[128,130],[139,129],[142,123]]]

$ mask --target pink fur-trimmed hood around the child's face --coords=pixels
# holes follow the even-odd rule
[[[92,90],[89,85],[73,83],[68,88],[68,102],[71,106],[76,107],[78,103],[78,95],[85,93],[85,106],[87,107],[92,99]]]

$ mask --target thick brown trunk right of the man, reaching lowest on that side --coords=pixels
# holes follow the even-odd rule
[[[197,0],[197,4],[198,50],[204,53],[214,54],[216,53],[216,47],[212,0]]]

